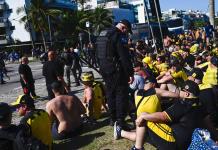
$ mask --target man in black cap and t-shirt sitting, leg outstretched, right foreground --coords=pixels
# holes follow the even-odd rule
[[[187,149],[191,142],[192,132],[202,121],[202,110],[199,103],[199,87],[187,80],[182,89],[183,99],[162,112],[143,112],[137,120],[137,128],[144,132],[127,132],[118,125],[114,127],[114,135],[117,138],[124,137],[136,140],[132,150],[144,150],[144,136],[147,135],[152,144],[160,150]],[[144,129],[143,129],[144,128]]]

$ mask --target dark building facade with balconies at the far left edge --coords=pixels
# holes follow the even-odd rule
[[[15,29],[9,21],[12,9],[9,8],[5,0],[0,0],[0,45],[10,44],[13,42],[11,34]]]

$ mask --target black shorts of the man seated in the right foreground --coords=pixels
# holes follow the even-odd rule
[[[149,142],[158,150],[178,150],[176,142],[168,142],[148,128]]]

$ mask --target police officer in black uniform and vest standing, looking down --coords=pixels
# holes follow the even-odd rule
[[[131,83],[134,79],[128,50],[128,32],[132,33],[131,24],[128,20],[123,19],[107,31],[105,36],[97,39],[97,56],[105,81],[111,125],[117,121],[120,126],[125,126],[128,82]]]

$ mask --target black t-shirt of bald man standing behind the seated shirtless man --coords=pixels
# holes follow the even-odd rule
[[[63,76],[62,65],[59,61],[47,61],[42,68],[42,75],[45,76],[46,85],[58,81],[58,76]]]

